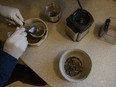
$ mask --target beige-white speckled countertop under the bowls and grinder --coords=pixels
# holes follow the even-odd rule
[[[13,1],[22,11],[24,18],[38,17],[39,6],[43,7],[47,1],[31,0],[8,1],[2,3],[12,4]],[[28,3],[25,3],[28,1]],[[49,0],[50,1],[50,0]],[[82,0],[80,0],[82,1]],[[20,2],[20,3],[19,3]],[[38,2],[38,4],[37,4]],[[48,37],[39,47],[28,47],[21,59],[51,87],[115,87],[116,86],[116,46],[101,41],[94,34],[95,29],[104,23],[106,18],[116,17],[116,2],[113,0],[84,0],[82,6],[94,18],[89,33],[80,41],[73,42],[66,34],[65,19],[78,8],[76,0],[56,0],[62,8],[63,14],[58,23],[49,23]],[[19,4],[19,5],[18,5]],[[12,4],[12,6],[15,6]],[[20,5],[22,5],[20,7]],[[25,15],[25,6],[30,8],[29,15]],[[24,8],[25,7],[25,8]],[[38,9],[37,9],[38,7]],[[24,9],[23,9],[24,8]],[[33,13],[32,13],[33,12]],[[1,29],[0,29],[1,30]],[[3,31],[1,31],[3,32]],[[58,61],[62,53],[69,49],[81,49],[88,53],[92,60],[92,69],[89,76],[77,83],[66,81],[58,69]]]

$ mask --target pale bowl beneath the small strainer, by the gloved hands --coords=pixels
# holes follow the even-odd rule
[[[32,24],[36,24],[36,23],[40,23],[41,26],[44,27],[44,32],[41,34],[40,37],[36,38],[36,37],[33,37],[31,34],[27,34],[27,40],[29,42],[29,45],[31,46],[39,46],[47,37],[48,35],[48,27],[46,25],[46,23],[39,19],[39,18],[30,18],[30,19],[27,19],[25,21],[25,25],[24,27],[28,27],[28,26],[31,26]]]

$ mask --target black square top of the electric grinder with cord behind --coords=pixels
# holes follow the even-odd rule
[[[91,26],[93,17],[88,11],[77,9],[66,19],[66,21],[67,26],[69,26],[75,33],[82,33]]]

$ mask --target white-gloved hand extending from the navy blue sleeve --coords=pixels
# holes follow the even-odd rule
[[[19,57],[26,50],[28,41],[27,33],[24,32],[25,28],[16,30],[5,42],[3,51],[10,54],[11,56],[19,59]]]

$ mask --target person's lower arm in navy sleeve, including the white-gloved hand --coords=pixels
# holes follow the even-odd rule
[[[19,57],[26,50],[28,41],[24,28],[16,30],[0,49],[0,87],[9,79]]]

